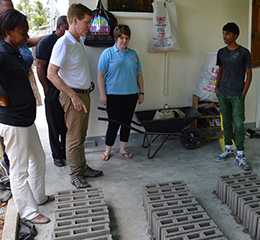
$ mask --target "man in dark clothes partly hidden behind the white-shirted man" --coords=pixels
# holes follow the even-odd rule
[[[57,20],[56,31],[43,38],[36,46],[37,74],[45,94],[44,102],[49,128],[49,141],[54,164],[58,167],[65,166],[67,127],[64,122],[64,111],[59,101],[60,91],[47,78],[47,69],[54,44],[68,28],[66,16],[60,16]]]

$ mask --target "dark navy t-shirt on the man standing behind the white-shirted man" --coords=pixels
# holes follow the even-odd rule
[[[51,58],[51,52],[54,44],[58,40],[58,37],[55,35],[55,32],[43,38],[37,45],[36,45],[36,58],[39,60],[46,61],[46,76],[47,76],[47,69],[49,65],[49,61]],[[45,95],[46,99],[57,99],[59,97],[60,91],[52,84],[50,80],[48,80],[48,92]]]

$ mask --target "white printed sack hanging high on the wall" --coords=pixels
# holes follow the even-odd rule
[[[153,3],[153,53],[180,51],[177,41],[177,13],[174,2]]]

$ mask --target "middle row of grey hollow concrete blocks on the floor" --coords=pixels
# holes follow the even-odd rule
[[[227,240],[184,181],[144,186],[143,204],[156,240]]]

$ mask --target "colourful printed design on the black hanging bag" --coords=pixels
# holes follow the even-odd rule
[[[109,35],[110,26],[108,20],[103,16],[95,17],[91,22],[91,35]]]

